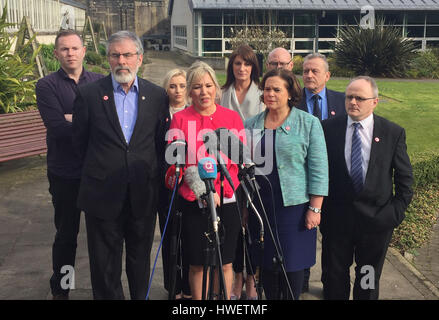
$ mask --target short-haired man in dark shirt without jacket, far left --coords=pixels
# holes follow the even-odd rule
[[[61,271],[66,273],[63,268],[73,268],[75,265],[81,214],[76,205],[81,161],[72,144],[73,100],[78,86],[103,77],[83,68],[85,50],[81,36],[76,31],[61,31],[56,36],[54,50],[61,67],[40,79],[35,88],[38,110],[47,128],[47,177],[56,228],[50,288],[56,300],[69,297],[70,285],[64,288],[61,285]]]

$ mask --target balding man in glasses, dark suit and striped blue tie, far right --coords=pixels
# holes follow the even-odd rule
[[[322,123],[329,163],[320,224],[325,299],[349,299],[353,260],[353,298],[378,299],[393,229],[413,195],[405,130],[375,115],[377,104],[375,80],[356,77],[346,88],[347,115]]]

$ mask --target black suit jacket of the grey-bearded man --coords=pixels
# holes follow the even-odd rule
[[[138,79],[138,114],[130,143],[125,142],[114,102],[111,76],[78,90],[73,143],[83,160],[78,206],[102,219],[120,214],[130,188],[134,216],[155,214],[165,90]],[[151,212],[154,211],[154,212]]]

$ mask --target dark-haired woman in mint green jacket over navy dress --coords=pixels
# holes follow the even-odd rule
[[[253,160],[273,188],[274,199],[269,184],[258,176],[268,220],[278,234],[288,281],[298,299],[303,270],[316,261],[320,208],[328,194],[325,138],[320,121],[294,107],[301,99],[302,89],[292,72],[269,71],[260,89],[267,109],[248,119],[245,128],[249,129]],[[251,213],[249,228],[255,238],[253,244],[257,244],[259,225]],[[261,261],[255,245],[251,252],[254,262]],[[265,295],[267,299],[291,299],[283,274],[277,272],[279,264],[273,263],[274,257],[273,241],[266,232],[261,276]]]

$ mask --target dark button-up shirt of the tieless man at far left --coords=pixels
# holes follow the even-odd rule
[[[104,76],[82,69],[78,83],[60,68],[38,80],[35,87],[37,106],[47,128],[47,170],[58,177],[79,179],[81,163],[73,149],[72,123],[65,118],[73,113],[78,86]]]

